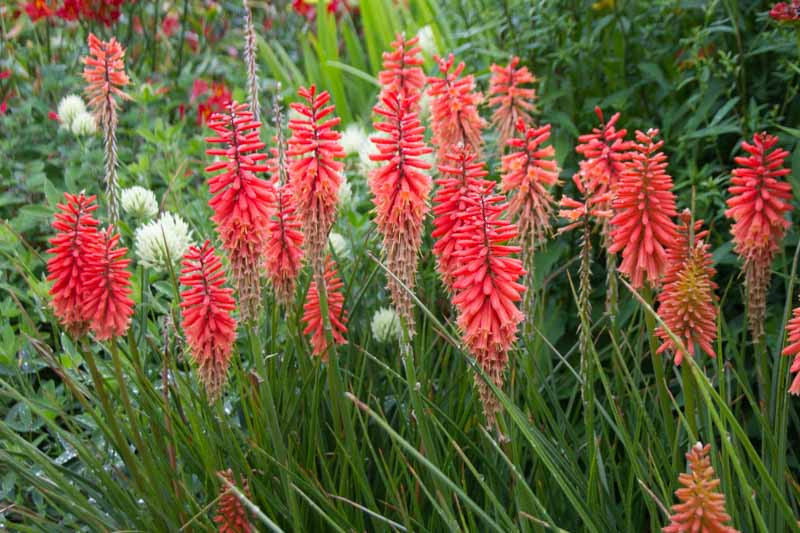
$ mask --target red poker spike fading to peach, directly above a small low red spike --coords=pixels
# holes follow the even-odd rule
[[[322,270],[328,234],[336,218],[339,185],[343,165],[338,158],[345,156],[339,144],[341,134],[333,129],[338,117],[328,117],[334,107],[327,91],[317,94],[316,86],[301,87],[298,94],[308,105],[291,104],[302,118],[289,121],[292,136],[287,155],[294,157],[289,167],[297,214],[306,238],[306,250],[315,271]]]

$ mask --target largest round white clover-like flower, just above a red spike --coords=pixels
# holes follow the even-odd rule
[[[139,263],[159,272],[176,265],[189,246],[192,235],[189,226],[178,215],[162,213],[158,220],[139,226],[134,236]]]

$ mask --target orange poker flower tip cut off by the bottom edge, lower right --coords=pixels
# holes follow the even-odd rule
[[[686,459],[689,472],[680,474],[681,488],[675,496],[681,503],[672,506],[670,523],[664,533],[738,533],[726,525],[731,517],[725,512],[725,495],[719,492],[720,480],[714,476],[714,468],[708,458],[711,445],[695,444]]]

